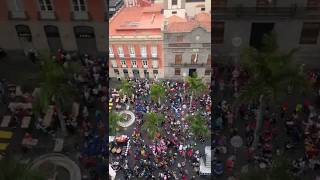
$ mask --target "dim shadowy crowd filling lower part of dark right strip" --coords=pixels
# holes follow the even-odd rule
[[[309,77],[314,89],[317,90],[319,82],[317,73],[310,73]],[[247,74],[239,66],[227,67],[227,70],[217,68],[215,71],[216,83],[213,92],[217,102],[213,105],[214,176],[230,176],[236,179],[246,171],[245,167],[254,165],[262,169],[270,168],[276,159],[285,154],[292,155],[289,161],[293,174],[299,176],[310,169],[317,170],[320,127],[318,100],[312,102],[312,99],[308,99],[310,97],[302,97],[296,98],[295,101],[288,99],[279,106],[264,104],[263,123],[257,133],[258,136],[255,137],[259,115],[258,104],[247,102],[238,108],[233,104],[239,88],[246,80]],[[230,92],[228,94],[234,96],[228,97],[223,91]],[[291,90],[288,88],[288,96],[290,93]],[[224,95],[219,98],[221,94]],[[315,99],[319,97],[320,95]],[[239,155],[233,150],[230,139],[234,136],[243,138],[244,145],[241,148],[246,154]],[[254,145],[255,138],[257,138],[256,145]],[[292,150],[300,151],[298,157]],[[247,161],[237,160],[239,156],[245,156]],[[233,171],[235,166],[241,172]]]

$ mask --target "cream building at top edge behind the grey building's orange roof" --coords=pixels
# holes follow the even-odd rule
[[[164,16],[181,18],[194,17],[196,14],[211,13],[211,0],[164,0]]]

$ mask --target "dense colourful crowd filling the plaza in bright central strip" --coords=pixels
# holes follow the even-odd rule
[[[210,128],[211,98],[209,88],[203,95],[192,101],[187,93],[188,84],[176,81],[149,81],[146,79],[131,79],[134,90],[134,105],[132,111],[136,116],[134,130],[131,134],[129,152],[113,154],[111,162],[122,165],[118,172],[126,179],[198,179],[199,159],[204,154],[204,144],[210,144],[209,139],[195,140],[186,115],[200,113],[205,119],[205,126]],[[161,104],[150,97],[150,87],[153,83],[161,83],[166,90],[166,98]],[[165,116],[161,124],[161,133],[155,138],[149,137],[145,129],[144,114],[155,112]],[[210,137],[210,135],[208,136]],[[202,146],[200,145],[202,144]],[[199,148],[203,149],[199,149]]]

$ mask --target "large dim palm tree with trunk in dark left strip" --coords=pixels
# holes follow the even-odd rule
[[[77,94],[76,88],[70,83],[72,74],[76,73],[76,70],[60,66],[51,59],[49,53],[42,53],[40,59],[42,60],[40,92],[36,96],[33,110],[36,116],[45,113],[53,101],[57,108],[62,136],[66,136],[63,112],[71,109],[71,104]]]

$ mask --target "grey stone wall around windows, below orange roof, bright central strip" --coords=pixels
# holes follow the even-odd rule
[[[173,48],[169,47],[171,43],[177,43],[176,39],[177,36],[183,35],[183,42],[182,43],[190,43],[191,47],[188,48]],[[164,77],[167,79],[183,79],[183,74],[189,74],[190,68],[197,69],[197,74],[200,77],[205,78],[206,80],[210,80],[211,76],[205,76],[205,69],[211,69],[211,65],[206,64],[208,55],[211,54],[210,47],[203,47],[203,44],[210,44],[211,43],[211,32],[205,31],[203,28],[195,28],[191,32],[186,33],[164,33]],[[200,39],[197,41],[196,36],[200,36]],[[191,64],[191,56],[192,54],[196,54],[194,52],[195,49],[199,49],[198,52],[198,61],[197,64],[205,63],[205,65],[188,65],[186,66],[173,66],[172,64],[175,63],[175,55],[182,54],[182,64],[187,63]],[[180,75],[175,75],[175,68],[181,68]]]

